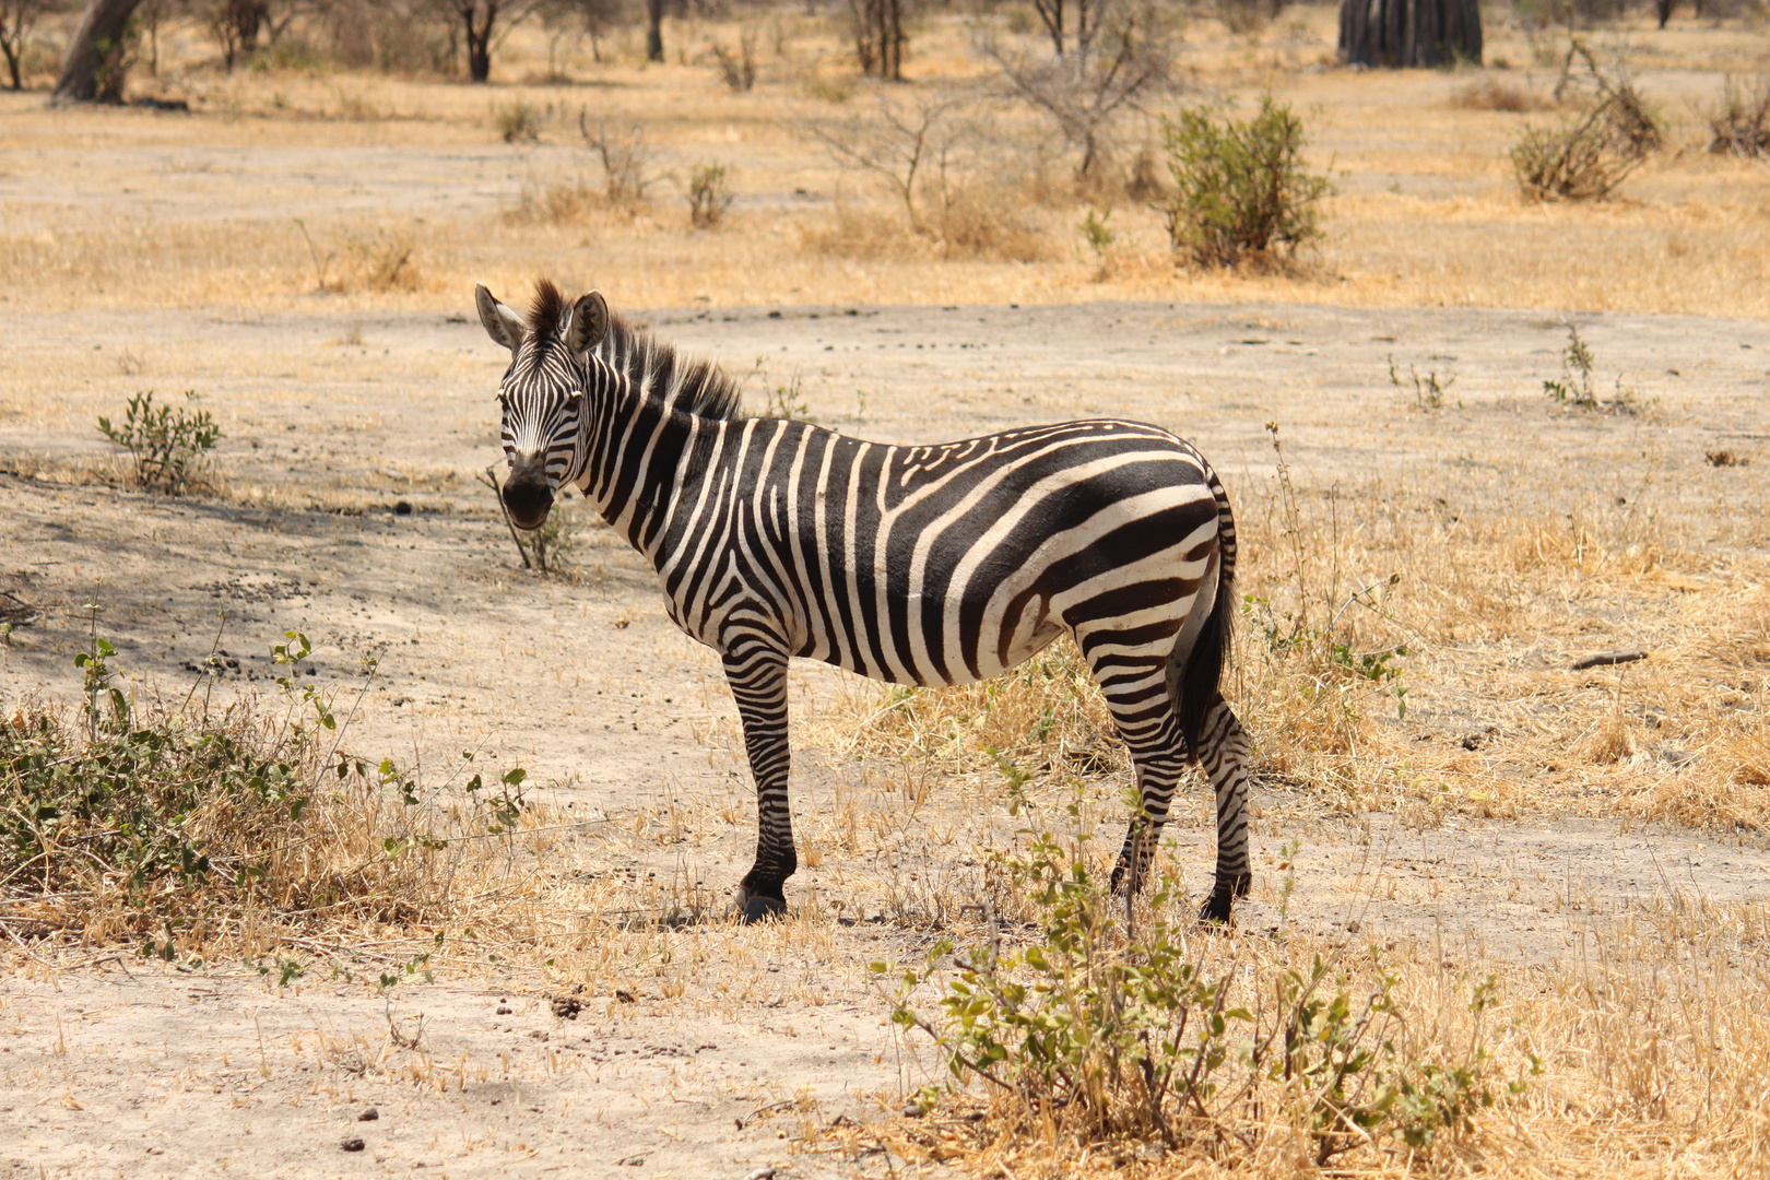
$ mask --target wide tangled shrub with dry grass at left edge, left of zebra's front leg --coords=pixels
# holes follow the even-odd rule
[[[172,959],[175,936],[239,948],[248,913],[266,934],[450,913],[451,840],[506,831],[524,771],[490,791],[474,775],[471,805],[437,816],[393,762],[338,750],[340,718],[299,681],[310,653],[294,632],[274,647],[281,715],[214,716],[133,704],[94,630],[76,656],[83,725],[42,709],[0,722],[0,879],[34,899],[14,929],[145,938]]]

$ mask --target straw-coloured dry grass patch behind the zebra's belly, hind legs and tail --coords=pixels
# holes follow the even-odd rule
[[[1393,490],[1285,481],[1241,504],[1241,534],[1248,601],[1227,685],[1274,784],[1308,784],[1345,814],[1423,807],[1434,823],[1575,812],[1770,831],[1761,564],[1710,580],[1713,557],[1623,511],[1451,520]],[[1728,584],[1758,589],[1717,601]],[[1600,614],[1632,619],[1650,658],[1568,670]],[[839,748],[942,777],[1012,764],[1046,798],[1124,768],[1067,644],[982,685],[858,692],[830,727]]]

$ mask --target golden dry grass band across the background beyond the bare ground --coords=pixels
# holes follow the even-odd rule
[[[726,90],[710,67],[639,69],[621,57],[604,65],[565,62],[568,74],[604,83],[595,106],[609,126],[644,127],[644,142],[666,175],[655,198],[660,205],[674,203],[674,189],[696,161],[740,168],[736,232],[696,235],[676,216],[644,212],[598,218],[586,189],[600,179],[600,163],[589,159],[575,129],[543,122],[538,145],[504,145],[489,126],[485,96],[471,88],[375,74],[271,71],[191,76],[204,113],[177,120],[142,111],[57,113],[44,111],[35,96],[0,96],[11,142],[19,149],[9,165],[16,195],[0,218],[7,226],[0,230],[0,278],[12,287],[28,283],[46,308],[244,301],[269,311],[327,287],[340,292],[336,299],[365,310],[455,311],[458,292],[476,280],[510,285],[556,271],[565,226],[568,244],[596,251],[596,281],[625,306],[681,306],[699,295],[717,304],[851,303],[890,290],[894,301],[912,303],[1276,297],[1765,313],[1759,239],[1766,218],[1749,161],[1657,157],[1628,179],[1627,207],[1566,218],[1529,209],[1503,180],[1515,119],[1503,110],[1462,106],[1458,94],[1471,83],[1446,83],[1430,73],[1290,73],[1296,65],[1287,62],[1303,41],[1331,53],[1331,16],[1328,9],[1304,9],[1283,28],[1251,39],[1198,21],[1186,32],[1182,65],[1230,96],[1246,99],[1271,87],[1310,111],[1312,161],[1331,161],[1345,173],[1342,196],[1328,203],[1324,219],[1320,265],[1333,281],[1177,274],[1159,218],[1131,202],[1113,218],[1119,265],[1110,281],[1096,283],[1096,267],[1074,237],[1085,202],[1058,193],[1053,200],[1062,207],[1035,216],[1027,209],[1034,202],[1014,186],[998,186],[1000,207],[986,207],[982,218],[966,212],[965,225],[940,234],[947,249],[899,249],[878,228],[862,235],[878,239],[873,244],[828,246],[843,237],[821,228],[837,216],[832,198],[841,198],[858,221],[885,216],[890,200],[864,177],[835,170],[818,145],[793,133],[805,103],[843,106],[839,90],[804,97],[800,80],[828,74],[818,62],[841,46],[839,30],[820,21],[798,23],[782,57],[766,64],[761,81],[743,96]],[[681,35],[694,48],[729,42],[735,30],[690,21]],[[1494,57],[1528,60],[1529,53],[1508,41],[1513,37],[1496,32]],[[1759,30],[1731,25],[1653,37],[1630,32],[1621,41],[1634,76],[1667,111],[1712,108],[1722,96],[1722,71],[1747,67],[1761,44]],[[981,71],[963,21],[931,19],[917,34],[917,46],[915,69],[924,80]],[[545,62],[545,46],[520,28],[504,53],[508,76]],[[1703,73],[1667,73],[1683,67]],[[1496,96],[1508,88],[1533,92],[1531,78],[1513,78],[1496,71],[1474,85]],[[499,96],[504,106],[565,110],[556,90],[506,90]],[[1374,127],[1382,133],[1370,134]],[[1676,140],[1689,129],[1673,127],[1669,134]],[[352,202],[354,212],[336,212],[329,198],[310,202],[297,195],[297,177],[313,172],[312,161],[281,159],[281,149],[266,147],[292,136],[338,161],[317,165],[313,175],[320,180],[370,179],[368,191]],[[1124,138],[1135,143],[1149,136],[1127,126]],[[398,147],[388,147],[389,140]],[[1066,163],[1050,159],[1050,140],[1037,119],[1007,111],[989,145],[1000,156],[995,166],[1011,177],[1062,175]],[[143,168],[138,156],[119,150],[122,143],[156,154],[159,163]],[[32,163],[37,147],[80,157],[83,191],[106,195],[106,218],[67,216],[87,196],[67,186],[69,172],[44,172],[46,165]],[[258,152],[264,172],[214,172],[212,152],[234,149]],[[359,163],[365,156],[377,161],[366,173]],[[466,166],[485,168],[485,180],[471,191],[462,191],[455,175],[453,161],[464,157],[476,161]],[[462,193],[460,200],[423,200],[444,182]],[[520,216],[508,219],[512,209]],[[377,232],[411,244],[412,255],[391,276],[373,258],[363,258],[352,274],[319,283],[294,216],[306,219],[322,255],[336,255],[340,271],[354,265],[350,246],[370,248]],[[1393,234],[1397,221],[1411,232]],[[1678,239],[1676,257],[1666,249],[1669,237]],[[853,262],[871,265],[857,271]]]

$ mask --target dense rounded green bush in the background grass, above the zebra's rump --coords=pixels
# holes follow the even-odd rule
[[[1273,96],[1253,119],[1184,110],[1163,120],[1174,193],[1159,205],[1191,262],[1278,260],[1320,239],[1317,205],[1333,191],[1303,166],[1303,120]]]

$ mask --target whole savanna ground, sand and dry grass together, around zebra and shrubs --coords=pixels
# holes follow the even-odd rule
[[[1669,143],[1575,207],[1508,179],[1522,126],[1554,111],[1464,104],[1485,80],[1545,104],[1552,34],[1494,11],[1487,71],[1354,74],[1319,69],[1329,9],[1241,34],[1193,16],[1174,103],[1271,88],[1338,188],[1301,267],[1198,272],[1140,203],[1078,196],[1014,108],[966,165],[972,230],[910,234],[804,133],[871,103],[830,25],[768,21],[749,94],[703,58],[735,27],[671,23],[671,64],[643,69],[618,37],[607,64],[568,55],[570,85],[510,81],[545,64],[524,35],[489,88],[221,76],[189,35],[138,80],[188,117],[0,96],[9,724],[83,729],[74,656],[103,635],[136,718],[299,747],[301,782],[340,750],[391,762],[313,793],[274,904],[41,863],[5,881],[0,1159],[1315,1168],[1278,1107],[1253,1146],[1172,1152],[1078,1145],[981,1095],[899,1115],[942,1067],[896,1035],[896,985],[867,964],[1030,938],[1039,915],[991,869],[1028,831],[1099,828],[1080,842],[1096,867],[1117,847],[1126,768],[1062,651],[943,693],[796,665],[795,911],[722,918],[754,812],[717,660],[582,504],[543,577],[476,483],[499,458],[501,361],[471,285],[517,303],[549,274],[750,373],[758,410],[889,441],[1122,414],[1198,441],[1244,540],[1228,688],[1258,810],[1253,897],[1188,954],[1250,991],[1315,955],[1354,992],[1381,968],[1409,1053],[1478,1046],[1496,1086],[1520,1083],[1432,1150],[1382,1141],[1342,1169],[1765,1175],[1770,205],[1763,165],[1703,150],[1701,111],[1724,73],[1763,69],[1770,35],[1604,34]],[[963,21],[936,19],[906,73],[929,92],[986,69]],[[508,145],[519,103],[540,138]],[[604,200],[581,108],[644,129],[646,200]],[[708,163],[736,200],[694,230],[681,189]],[[1101,257],[1076,225],[1110,203]],[[1628,412],[1543,396],[1570,326]],[[142,389],[195,389],[225,432],[188,495],[131,488],[96,430]],[[285,692],[290,630],[315,649]],[[1646,658],[1574,669],[1620,649]],[[336,731],[313,731],[310,685]],[[464,791],[513,766],[517,787]],[[1193,793],[1161,863],[1197,899],[1211,851]],[[936,991],[912,1003],[933,1012]]]

